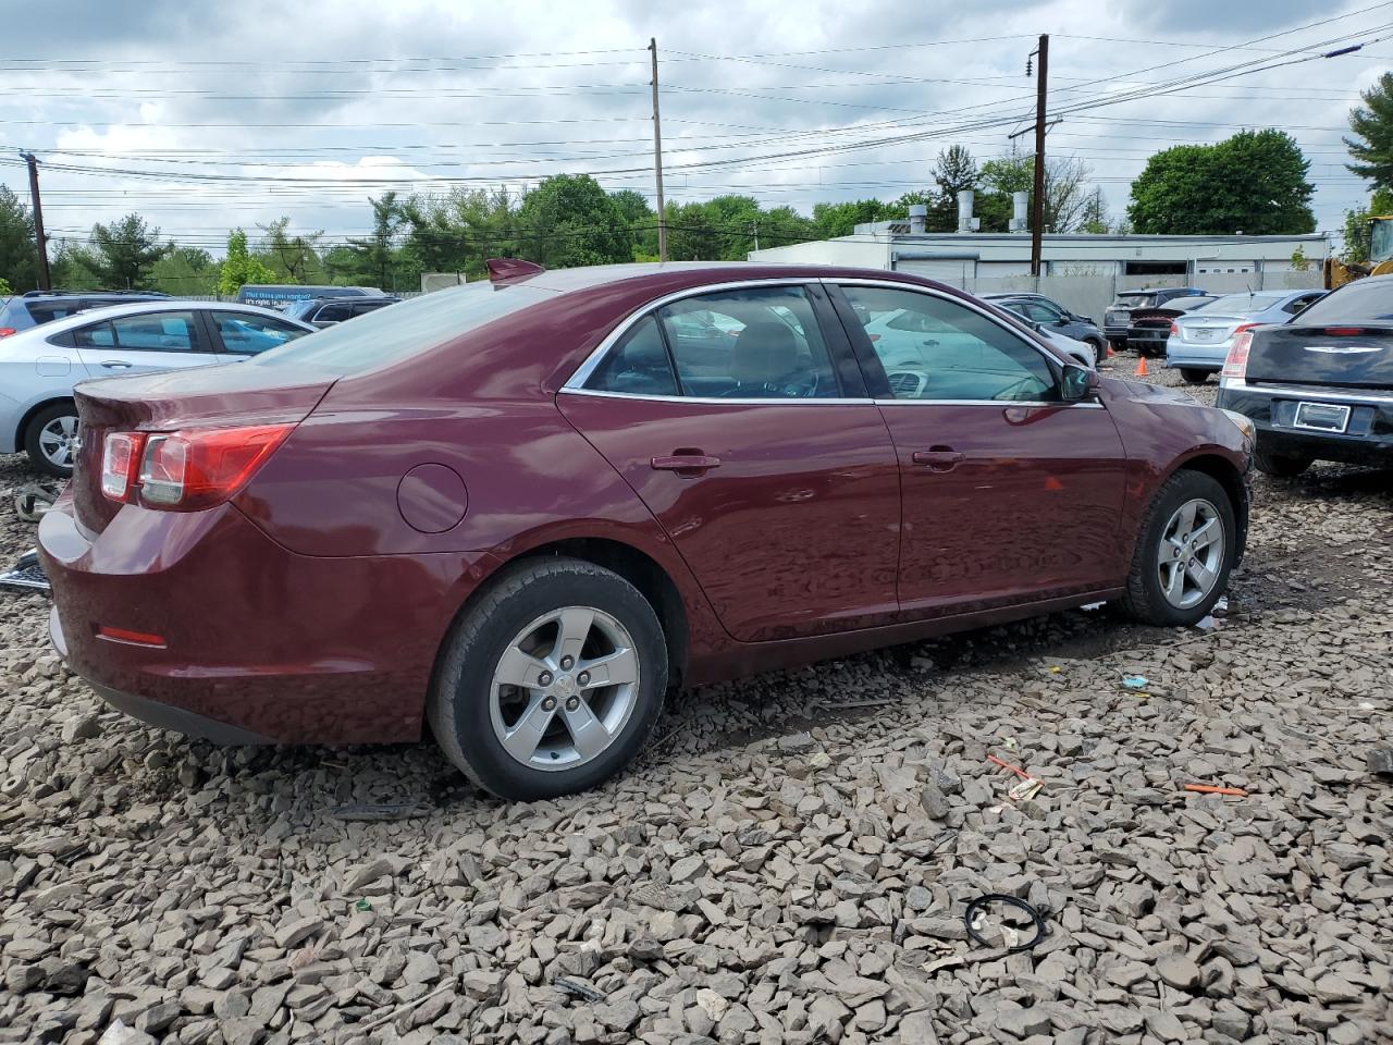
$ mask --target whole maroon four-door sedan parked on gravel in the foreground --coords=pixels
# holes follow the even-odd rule
[[[1199,620],[1251,426],[912,276],[495,266],[248,362],[78,386],[53,640],[230,743],[410,741],[510,798],[664,692],[1102,599]]]

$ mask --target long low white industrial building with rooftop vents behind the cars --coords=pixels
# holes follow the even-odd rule
[[[963,194],[970,196],[971,194]],[[1024,195],[1024,194],[1020,194]],[[1329,238],[1309,235],[1092,235],[1046,233],[1042,276],[1031,273],[1024,203],[1017,231],[970,231],[972,201],[960,199],[957,233],[924,231],[924,208],[904,220],[859,224],[836,240],[751,251],[752,262],[848,265],[928,276],[975,294],[1038,290],[1082,315],[1100,316],[1119,290],[1195,286],[1216,293],[1321,286]],[[1307,268],[1293,265],[1300,249]]]

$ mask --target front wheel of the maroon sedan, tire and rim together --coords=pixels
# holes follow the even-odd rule
[[[1123,606],[1137,620],[1183,627],[1202,620],[1229,587],[1238,525],[1217,479],[1181,470],[1146,511]]]

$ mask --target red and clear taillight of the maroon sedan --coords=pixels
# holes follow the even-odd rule
[[[210,509],[237,496],[294,428],[281,424],[113,432],[102,460],[102,493],[166,511]],[[139,463],[134,472],[132,456]],[[118,482],[118,475],[124,481]]]

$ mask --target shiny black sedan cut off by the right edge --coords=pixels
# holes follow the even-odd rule
[[[1312,461],[1393,464],[1393,276],[1240,330],[1217,401],[1256,424],[1254,463],[1268,475],[1300,475]]]

